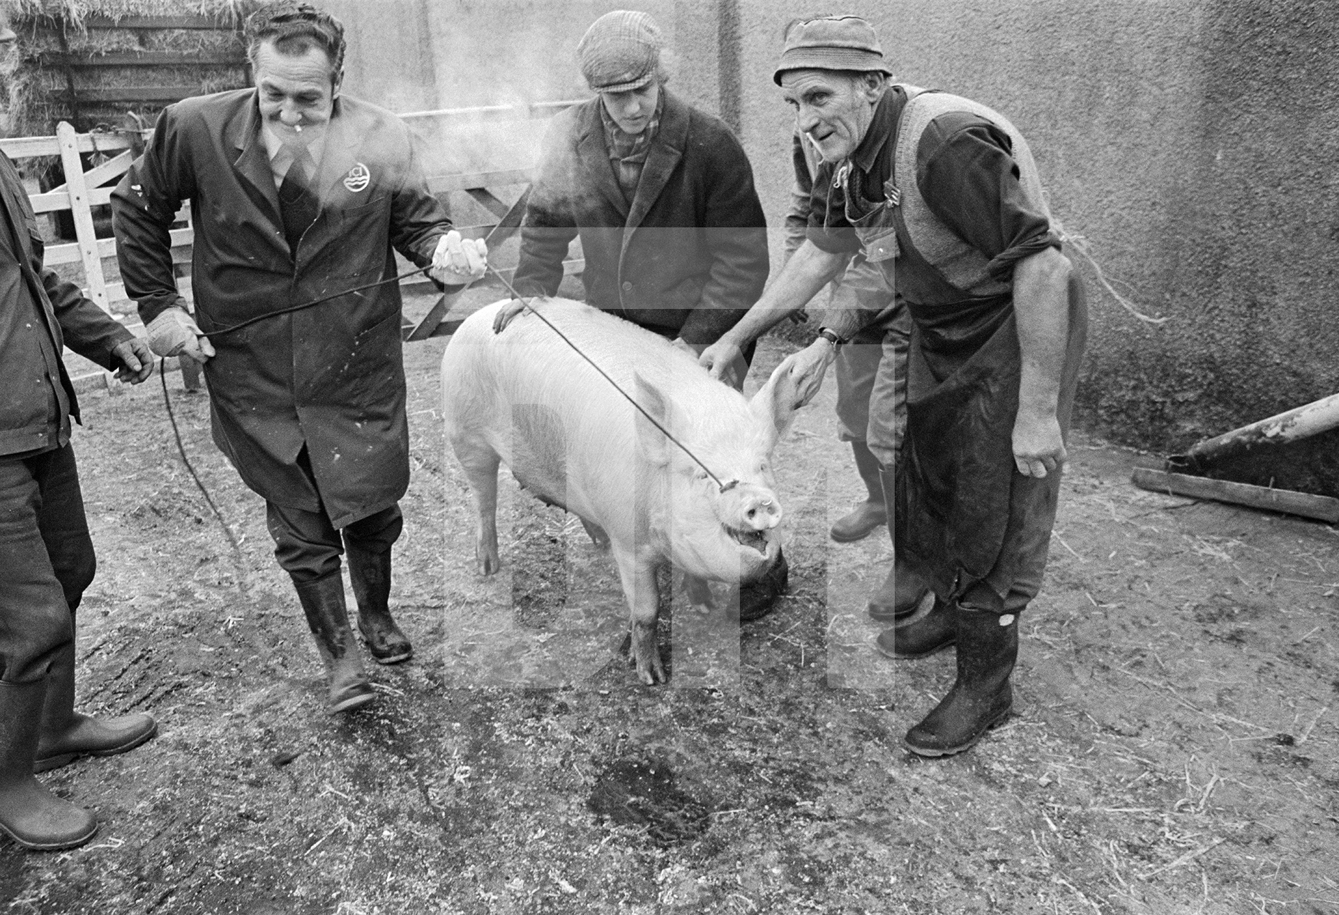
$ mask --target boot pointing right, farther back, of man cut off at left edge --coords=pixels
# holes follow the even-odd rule
[[[75,643],[71,642],[51,662],[42,735],[32,770],[47,772],[78,756],[125,753],[157,733],[158,722],[151,715],[94,718],[75,711]]]

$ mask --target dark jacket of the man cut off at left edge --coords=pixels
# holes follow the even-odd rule
[[[60,360],[63,346],[103,368],[112,368],[111,351],[133,335],[86,299],[74,283],[43,268],[37,218],[13,162],[3,153],[0,205],[5,209],[0,213],[0,232],[13,229],[15,257],[28,293],[28,297],[5,296],[0,301],[3,458],[59,447],[68,441],[66,415],[78,419],[79,403]],[[51,409],[52,402],[56,410]]]

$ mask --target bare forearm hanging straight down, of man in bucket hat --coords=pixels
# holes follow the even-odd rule
[[[1069,340],[1070,261],[1054,248],[1014,269],[1014,311],[1022,356],[1019,411],[1054,415]]]

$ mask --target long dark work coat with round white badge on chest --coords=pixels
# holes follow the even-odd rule
[[[195,315],[214,442],[266,500],[344,526],[408,486],[400,292],[390,283],[241,331],[258,315],[395,276],[392,248],[430,263],[451,224],[410,133],[388,111],[335,104],[319,167],[320,214],[289,251],[254,90],[169,106],[112,194],[121,273],[147,324],[179,301],[169,225],[190,198]],[[315,488],[297,457],[307,446]]]

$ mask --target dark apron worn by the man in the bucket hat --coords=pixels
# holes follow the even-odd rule
[[[1016,612],[1040,587],[1060,474],[1027,477],[1014,464],[1022,360],[1012,295],[951,301],[961,293],[912,244],[894,181],[862,217],[848,212],[866,260],[882,267],[915,322],[894,544],[940,599]],[[1073,277],[1062,433],[1069,430],[1086,315],[1082,285]]]

